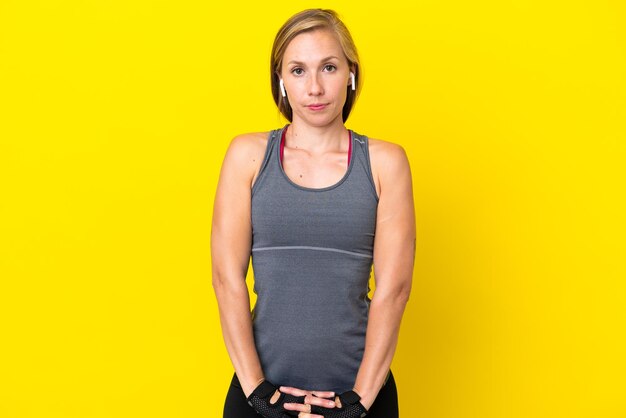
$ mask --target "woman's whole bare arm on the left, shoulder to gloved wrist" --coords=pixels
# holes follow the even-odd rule
[[[220,171],[211,227],[212,284],[222,335],[246,397],[264,379],[246,286],[252,246],[251,185],[263,152],[258,135],[233,138]]]

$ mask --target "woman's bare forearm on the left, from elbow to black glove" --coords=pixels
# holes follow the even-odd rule
[[[252,332],[248,288],[243,277],[241,280],[220,280],[215,276],[213,288],[224,343],[242,389],[248,396],[264,378]]]

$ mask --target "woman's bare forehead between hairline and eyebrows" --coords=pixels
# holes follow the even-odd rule
[[[303,32],[289,42],[283,56],[283,63],[289,61],[316,62],[329,56],[345,60],[343,49],[337,36],[328,29]]]

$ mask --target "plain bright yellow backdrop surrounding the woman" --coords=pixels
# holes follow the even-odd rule
[[[0,1],[0,417],[221,416],[219,166],[307,7],[411,161],[401,416],[626,416],[624,3],[219,3]]]

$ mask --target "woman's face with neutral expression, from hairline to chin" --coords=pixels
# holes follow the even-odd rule
[[[303,32],[287,46],[280,77],[293,122],[324,126],[341,119],[350,84],[350,67],[329,30]]]

